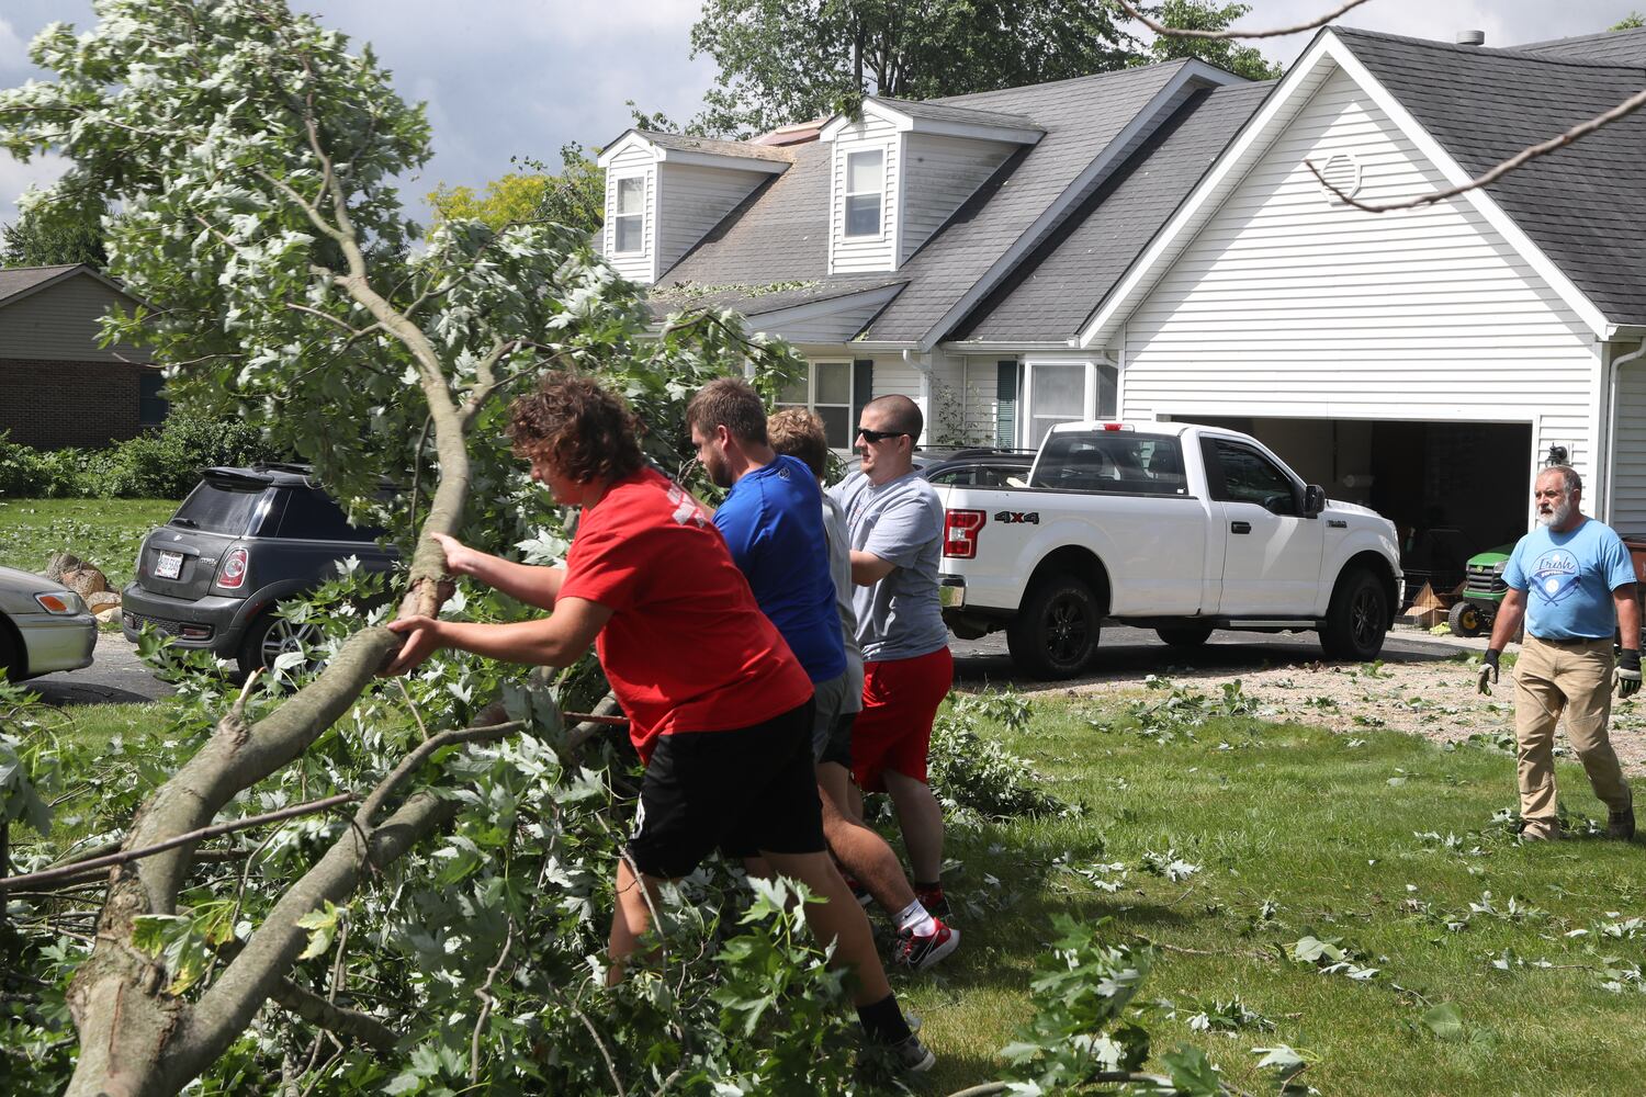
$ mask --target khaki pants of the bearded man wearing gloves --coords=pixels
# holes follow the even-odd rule
[[[1610,811],[1631,804],[1606,737],[1611,715],[1611,640],[1552,643],[1526,636],[1514,663],[1514,738],[1519,747],[1521,819],[1555,821],[1554,727],[1565,735]]]

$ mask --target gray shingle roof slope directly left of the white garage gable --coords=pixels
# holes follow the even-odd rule
[[[1272,87],[1200,92],[948,337],[1044,342],[1076,336]]]

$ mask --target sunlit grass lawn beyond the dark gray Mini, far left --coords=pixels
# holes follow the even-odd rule
[[[163,498],[0,500],[0,564],[44,571],[67,549],[109,576],[109,589],[132,582],[137,549],[178,505]]]

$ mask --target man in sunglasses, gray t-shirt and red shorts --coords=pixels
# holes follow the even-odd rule
[[[871,400],[858,419],[859,472],[830,495],[846,511],[863,646],[851,771],[864,791],[890,793],[915,895],[942,916],[943,812],[927,785],[927,748],[955,661],[937,592],[943,503],[914,470],[922,428],[920,408],[907,396]]]

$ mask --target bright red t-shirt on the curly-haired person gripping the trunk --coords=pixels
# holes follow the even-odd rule
[[[560,597],[612,610],[594,651],[642,760],[658,735],[751,727],[811,696],[708,513],[652,469],[584,508]]]

